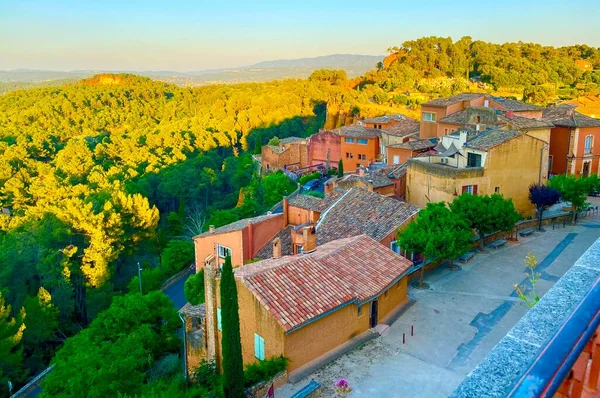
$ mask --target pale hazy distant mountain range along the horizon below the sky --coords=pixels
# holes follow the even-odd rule
[[[343,69],[348,76],[360,76],[373,69],[383,59],[376,55],[333,54],[314,58],[263,61],[239,68],[209,69],[191,72],[174,71],[105,71],[74,70],[68,72],[15,69],[0,71],[0,92],[16,88],[49,85],[54,80],[75,81],[98,73],[134,73],[181,86],[199,86],[218,83],[262,82],[286,78],[306,78],[316,69]],[[9,84],[10,83],[10,84]],[[26,83],[26,84],[21,84]]]

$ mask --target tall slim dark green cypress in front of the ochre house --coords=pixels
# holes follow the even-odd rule
[[[226,398],[243,398],[244,364],[240,338],[237,287],[231,257],[225,258],[221,271],[221,329],[223,332],[223,392]]]

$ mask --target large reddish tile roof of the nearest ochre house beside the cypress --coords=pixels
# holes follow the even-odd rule
[[[235,275],[289,333],[328,311],[369,301],[411,266],[361,235],[329,242],[308,254],[248,264]]]

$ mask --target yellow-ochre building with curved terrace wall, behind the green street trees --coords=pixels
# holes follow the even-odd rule
[[[406,200],[425,207],[427,202],[450,203],[463,193],[498,193],[512,199],[523,216],[531,216],[528,188],[545,181],[546,145],[528,134],[501,129],[462,129],[443,136],[437,154],[408,162]]]

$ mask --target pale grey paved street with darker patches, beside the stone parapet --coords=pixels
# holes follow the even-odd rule
[[[525,280],[527,253],[539,262],[541,296],[600,237],[600,216],[546,230],[477,254],[461,271],[430,272],[430,289],[409,290],[416,302],[388,333],[276,395],[289,397],[314,378],[330,397],[333,384],[345,378],[353,388],[349,397],[447,396],[527,312],[513,288]]]

